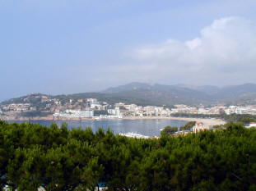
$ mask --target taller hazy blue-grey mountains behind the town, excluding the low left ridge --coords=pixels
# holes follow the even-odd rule
[[[240,84],[219,88],[212,85],[193,86],[187,84],[162,85],[147,83],[130,83],[115,88],[105,89],[103,93],[119,96],[144,98],[163,104],[184,103],[254,103],[256,102],[256,84]]]

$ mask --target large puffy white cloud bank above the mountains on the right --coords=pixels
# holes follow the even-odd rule
[[[250,20],[226,17],[214,20],[197,38],[168,39],[137,48],[131,57],[135,64],[126,67],[127,71],[143,79],[167,79],[168,84],[256,82],[256,30]]]

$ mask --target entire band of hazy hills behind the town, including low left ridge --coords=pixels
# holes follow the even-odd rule
[[[219,88],[212,85],[194,86],[187,84],[147,84],[133,82],[130,84],[111,87],[98,93],[74,93],[68,95],[52,96],[67,100],[69,98],[97,98],[100,101],[126,102],[137,105],[175,105],[175,104],[214,104],[217,102],[227,104],[255,104],[256,84],[240,84]],[[23,97],[22,97],[23,98]],[[21,99],[14,98],[2,104],[20,102]]]

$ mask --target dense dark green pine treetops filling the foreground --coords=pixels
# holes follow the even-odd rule
[[[255,190],[256,130],[160,139],[0,121],[0,185],[18,190]]]

